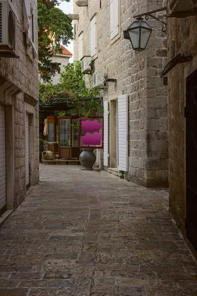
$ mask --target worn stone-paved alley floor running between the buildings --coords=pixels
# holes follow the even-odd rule
[[[197,296],[197,261],[165,191],[41,165],[0,229],[0,296]]]

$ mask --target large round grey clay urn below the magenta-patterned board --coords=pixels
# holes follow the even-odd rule
[[[94,149],[82,149],[83,151],[79,155],[79,161],[82,166],[82,171],[93,171],[93,165],[96,161],[96,155]]]

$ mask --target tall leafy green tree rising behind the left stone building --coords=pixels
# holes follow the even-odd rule
[[[55,52],[62,53],[61,42],[66,46],[73,38],[72,21],[55,7],[58,4],[58,0],[38,0],[38,68],[44,82],[50,82],[56,72],[60,73],[60,63],[51,58]]]

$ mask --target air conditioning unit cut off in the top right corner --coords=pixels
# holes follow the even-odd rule
[[[170,13],[194,11],[197,9],[197,0],[169,0]]]

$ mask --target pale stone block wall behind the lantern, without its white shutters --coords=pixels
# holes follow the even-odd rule
[[[78,59],[81,31],[84,34],[84,55],[90,55],[90,19],[97,12],[95,71],[105,70],[108,77],[117,79],[116,84],[108,84],[103,91],[103,101],[129,95],[129,171],[125,178],[145,186],[168,185],[167,90],[160,78],[166,64],[166,34],[161,23],[150,19],[148,23],[153,32],[147,49],[136,52],[130,41],[123,38],[123,31],[134,20],[132,15],[164,7],[165,2],[120,0],[120,35],[113,43],[110,40],[110,1],[102,1],[101,9],[97,0],[88,1],[88,7],[78,7],[74,3],[74,13],[79,14],[79,20],[74,21],[74,60]],[[113,120],[109,119],[109,122],[112,131]],[[114,145],[109,139],[110,157],[115,154],[113,150]],[[112,163],[114,165],[109,159],[109,165]]]

